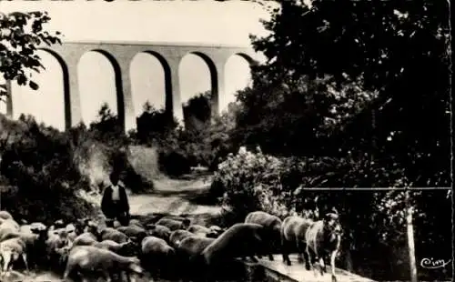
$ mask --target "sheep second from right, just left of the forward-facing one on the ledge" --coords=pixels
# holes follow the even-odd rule
[[[298,261],[303,263],[309,270],[309,260],[305,247],[307,246],[305,234],[308,227],[313,224],[313,220],[303,217],[291,216],[283,220],[281,226],[281,252],[283,255],[283,262],[288,266],[291,265],[289,260],[289,252],[296,249],[298,252]]]

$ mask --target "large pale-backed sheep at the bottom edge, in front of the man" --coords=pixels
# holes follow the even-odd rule
[[[122,271],[128,275],[144,272],[137,257],[119,256],[112,251],[99,247],[77,246],[69,253],[64,279],[67,280],[69,277],[76,277],[76,275],[86,278],[98,273],[110,281],[113,274],[120,274]]]

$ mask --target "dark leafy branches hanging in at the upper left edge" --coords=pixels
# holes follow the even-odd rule
[[[0,73],[5,80],[38,89],[30,78],[32,71],[39,73],[45,69],[35,54],[38,46],[61,44],[60,32],[50,33],[43,27],[50,19],[47,12],[0,13]],[[5,86],[0,86],[0,97],[6,94]]]

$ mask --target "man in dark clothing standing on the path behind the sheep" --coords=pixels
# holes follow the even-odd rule
[[[118,175],[111,173],[111,185],[107,186],[101,200],[101,210],[107,217],[109,225],[118,220],[121,225],[126,226],[129,222],[129,204],[124,186],[118,183]]]

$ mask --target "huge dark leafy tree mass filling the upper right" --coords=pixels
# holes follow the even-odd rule
[[[252,36],[268,61],[238,97],[238,135],[276,155],[367,152],[412,186],[450,186],[448,2],[278,3]]]

